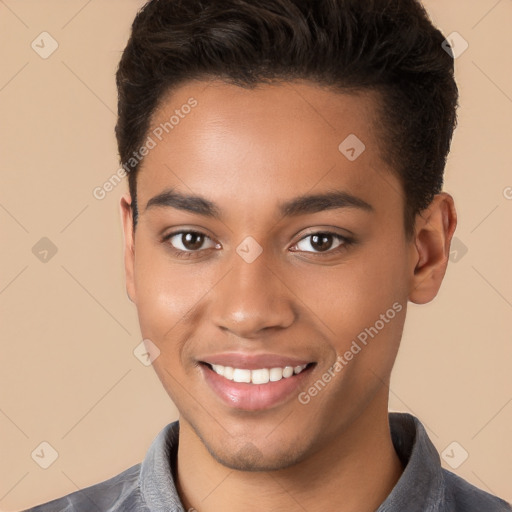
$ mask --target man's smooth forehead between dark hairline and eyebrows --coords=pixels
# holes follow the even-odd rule
[[[365,199],[388,193],[396,202],[401,189],[375,135],[377,106],[370,92],[307,82],[184,84],[152,116],[154,147],[140,167],[139,204],[171,187],[269,208],[277,198],[329,188]]]

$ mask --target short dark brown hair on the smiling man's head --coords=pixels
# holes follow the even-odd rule
[[[411,235],[415,215],[442,189],[457,123],[444,40],[416,0],[151,0],[133,22],[116,75],[121,162],[142,145],[164,95],[191,79],[374,90],[381,153],[403,186]],[[139,166],[128,178],[134,227]]]

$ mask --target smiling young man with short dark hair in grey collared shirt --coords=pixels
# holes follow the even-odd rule
[[[415,0],[153,0],[117,74],[127,291],[180,411],[34,511],[510,511],[388,413],[443,280],[453,58]]]

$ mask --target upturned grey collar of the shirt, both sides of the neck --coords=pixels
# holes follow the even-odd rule
[[[389,413],[391,439],[404,471],[376,512],[434,512],[443,501],[439,454],[425,428],[407,413]],[[169,423],[142,461],[139,488],[151,512],[184,512],[175,486],[179,423]]]

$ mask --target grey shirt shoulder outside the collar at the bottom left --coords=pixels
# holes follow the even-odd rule
[[[140,467],[136,464],[108,480],[23,512],[145,511],[139,490]]]

